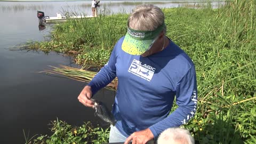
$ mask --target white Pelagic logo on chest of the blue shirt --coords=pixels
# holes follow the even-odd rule
[[[155,70],[156,69],[154,67],[147,64],[142,64],[141,61],[135,59],[132,60],[131,66],[128,69],[130,73],[146,79],[149,82],[151,81]]]

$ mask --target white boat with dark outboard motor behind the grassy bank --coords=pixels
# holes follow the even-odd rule
[[[68,14],[67,14],[68,15]],[[37,11],[37,18],[39,20],[39,25],[45,25],[45,23],[55,23],[66,21],[67,19],[82,19],[82,18],[93,18],[92,15],[73,15],[73,16],[62,16],[60,13],[56,13],[56,17],[45,16],[44,12]]]

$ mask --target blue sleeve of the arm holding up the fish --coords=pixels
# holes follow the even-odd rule
[[[107,86],[116,77],[116,47],[115,45],[106,65],[100,69],[99,73],[97,73],[88,84],[91,86],[92,95]]]

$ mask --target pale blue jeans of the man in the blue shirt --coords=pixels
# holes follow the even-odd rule
[[[125,142],[126,137],[120,133],[115,126],[110,126],[109,143],[110,142]]]

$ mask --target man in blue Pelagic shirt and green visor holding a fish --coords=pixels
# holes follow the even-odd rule
[[[197,108],[193,61],[166,36],[163,11],[140,5],[127,21],[127,33],[115,44],[109,61],[78,95],[93,107],[92,95],[118,78],[112,109],[116,119],[109,142],[125,144],[157,140],[170,127],[191,119]],[[174,98],[178,105],[170,115]]]

